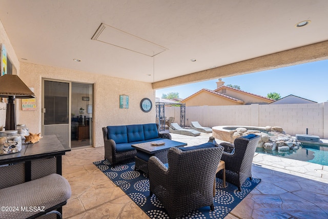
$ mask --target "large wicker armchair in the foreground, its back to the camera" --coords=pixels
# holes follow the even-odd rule
[[[151,156],[150,195],[156,195],[171,218],[204,206],[214,210],[213,183],[222,151],[213,143],[170,148],[167,165]]]

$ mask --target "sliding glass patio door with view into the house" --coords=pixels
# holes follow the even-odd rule
[[[91,147],[93,85],[43,79],[43,135],[71,148]]]

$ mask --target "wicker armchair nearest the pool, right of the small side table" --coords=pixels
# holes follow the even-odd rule
[[[221,160],[226,162],[226,181],[234,184],[240,191],[241,185],[250,177],[252,180],[252,162],[259,135],[249,134],[237,137],[234,144],[220,143],[224,147]],[[222,172],[217,173],[222,178]]]

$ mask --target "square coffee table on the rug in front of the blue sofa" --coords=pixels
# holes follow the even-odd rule
[[[165,144],[161,144],[165,143]],[[160,145],[152,145],[152,144],[160,144]],[[137,152],[141,151],[146,154],[149,154],[150,156],[156,156],[158,159],[163,163],[168,163],[168,150],[172,147],[183,147],[186,146],[186,143],[183,142],[176,142],[169,140],[167,138],[163,138],[158,141],[153,142],[146,142],[141,144],[134,144],[131,145],[134,147]],[[135,170],[139,169],[148,175],[148,161],[142,160],[141,158],[135,156]]]

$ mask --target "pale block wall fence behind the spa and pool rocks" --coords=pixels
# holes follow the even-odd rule
[[[179,107],[166,107],[165,116],[180,121]],[[276,104],[242,106],[186,107],[186,126],[192,121],[206,127],[213,126],[280,126],[292,136],[318,135],[328,139],[328,102],[320,104]]]

